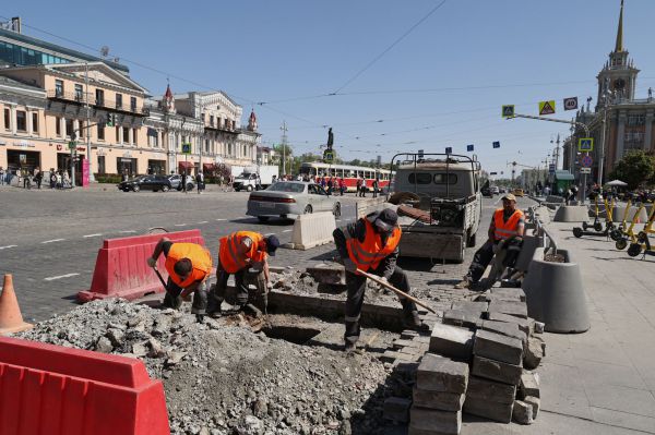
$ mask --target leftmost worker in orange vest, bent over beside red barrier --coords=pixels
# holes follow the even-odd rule
[[[155,267],[157,258],[164,253],[166,257],[166,297],[164,306],[179,309],[182,299],[193,293],[191,313],[202,321],[207,305],[207,279],[212,273],[212,254],[206,247],[196,243],[171,242],[162,238],[147,265]]]

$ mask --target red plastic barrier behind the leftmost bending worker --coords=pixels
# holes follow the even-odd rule
[[[123,298],[131,301],[145,294],[164,292],[157,275],[146,263],[163,237],[172,242],[205,244],[200,230],[107,239],[98,250],[91,289],[79,292],[78,300],[88,302],[94,299]],[[157,269],[166,280],[168,273],[164,263],[164,255],[160,255]]]

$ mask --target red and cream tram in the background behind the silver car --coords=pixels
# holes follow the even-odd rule
[[[391,171],[388,169],[368,168],[366,166],[349,166],[349,165],[327,165],[319,161],[305,162],[300,165],[300,174],[309,177],[310,180],[315,179],[317,182],[321,177],[343,178],[348,192],[357,191],[357,180],[362,177],[366,179],[366,186],[369,191],[373,188],[373,180],[379,179],[379,189],[389,185]]]

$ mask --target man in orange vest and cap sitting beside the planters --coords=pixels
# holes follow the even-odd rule
[[[493,212],[488,231],[489,239],[477,250],[468,267],[468,273],[461,282],[455,285],[455,288],[476,288],[493,255],[501,250],[508,250],[503,265],[508,266],[515,261],[523,242],[524,228],[525,216],[516,208],[516,196],[507,193],[502,197],[502,208]]]

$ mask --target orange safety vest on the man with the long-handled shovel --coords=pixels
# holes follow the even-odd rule
[[[382,246],[382,238],[376,232],[373,225],[366,218],[364,221],[366,223],[364,242],[350,237],[349,231],[344,231],[344,235],[346,237],[348,256],[357,265],[357,268],[367,271],[370,268],[377,269],[380,262],[395,251],[401,242],[402,231],[400,227],[395,227],[389,239],[386,239],[386,244]]]

